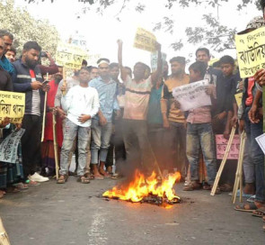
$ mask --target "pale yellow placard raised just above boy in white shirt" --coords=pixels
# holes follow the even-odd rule
[[[57,45],[57,65],[70,69],[80,69],[87,54],[80,47],[73,44],[59,42]]]

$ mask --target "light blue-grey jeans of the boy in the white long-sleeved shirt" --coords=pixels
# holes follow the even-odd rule
[[[78,135],[78,168],[77,175],[84,176],[88,147],[90,145],[90,127],[80,127],[66,119],[64,128],[64,141],[61,150],[60,175],[68,173],[68,159],[72,151],[75,137]]]

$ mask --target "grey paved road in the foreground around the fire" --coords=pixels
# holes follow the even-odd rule
[[[82,185],[70,177],[65,185],[51,180],[7,195],[0,214],[12,245],[265,244],[261,219],[235,212],[227,194],[182,192],[179,185],[185,201],[167,210],[102,199],[115,183],[104,179]]]

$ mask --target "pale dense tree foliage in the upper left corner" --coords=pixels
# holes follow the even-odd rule
[[[37,41],[42,50],[55,54],[59,34],[47,20],[36,20],[25,9],[15,8],[14,0],[0,0],[0,29],[14,35],[14,47],[18,53],[26,41]]]

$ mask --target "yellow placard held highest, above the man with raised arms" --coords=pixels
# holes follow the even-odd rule
[[[148,32],[143,28],[137,28],[134,47],[140,50],[155,52],[156,38],[152,32]]]

